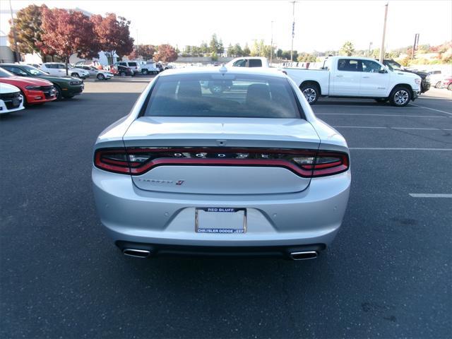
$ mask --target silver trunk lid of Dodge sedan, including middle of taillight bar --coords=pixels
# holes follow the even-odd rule
[[[124,145],[140,189],[279,194],[307,188],[309,171],[299,164],[315,156],[319,137],[303,119],[141,117]]]

